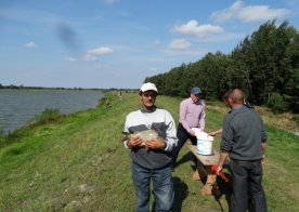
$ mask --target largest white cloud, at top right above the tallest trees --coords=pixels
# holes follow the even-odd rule
[[[289,13],[290,11],[287,9],[271,9],[269,5],[245,5],[243,1],[236,1],[227,9],[213,12],[211,18],[219,23],[233,18],[243,23],[253,23],[286,18]]]

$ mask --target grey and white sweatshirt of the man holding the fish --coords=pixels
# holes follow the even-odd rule
[[[130,112],[126,118],[125,132],[136,133],[143,130],[156,130],[166,142],[166,148],[146,149],[143,147],[131,149],[132,161],[146,169],[159,169],[170,164],[171,150],[178,143],[176,123],[169,111],[154,108],[139,109]]]

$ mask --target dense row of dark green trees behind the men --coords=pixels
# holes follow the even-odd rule
[[[299,32],[288,22],[262,24],[230,54],[208,53],[168,72],[146,77],[159,93],[186,96],[199,87],[207,100],[221,100],[230,89],[242,89],[249,102],[275,111],[299,111]]]

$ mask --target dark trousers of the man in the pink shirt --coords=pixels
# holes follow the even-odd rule
[[[176,165],[181,148],[184,146],[187,140],[190,140],[193,145],[197,144],[196,136],[192,136],[191,134],[188,134],[188,132],[184,129],[184,127],[181,123],[179,123],[178,125],[177,137],[179,138],[178,145],[172,150],[173,167]]]

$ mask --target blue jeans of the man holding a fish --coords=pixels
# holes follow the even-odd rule
[[[136,211],[150,211],[150,184],[153,181],[155,211],[171,211],[174,190],[170,167],[162,169],[145,169],[132,162],[132,178],[136,196]]]

